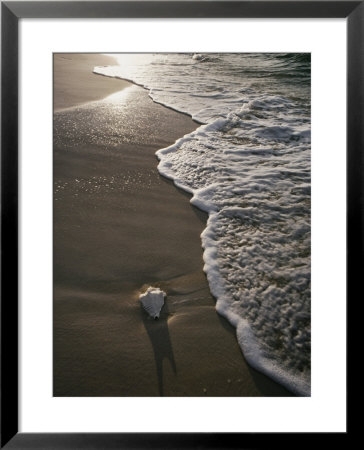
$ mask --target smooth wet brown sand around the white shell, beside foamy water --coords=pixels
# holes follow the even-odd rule
[[[207,215],[157,171],[198,124],[92,73],[108,64],[54,56],[54,396],[292,395],[245,362],[203,272]]]

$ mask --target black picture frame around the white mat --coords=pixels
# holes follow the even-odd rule
[[[347,304],[357,296],[363,273],[363,1],[1,2],[1,448],[258,448],[277,438],[267,433],[18,433],[19,19],[237,17],[347,19]],[[348,431],[335,436],[339,445]],[[283,445],[298,439],[297,434],[279,437]],[[300,436],[300,445],[308,438],[309,433]]]

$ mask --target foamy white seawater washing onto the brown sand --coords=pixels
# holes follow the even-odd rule
[[[200,124],[157,152],[209,219],[204,271],[248,362],[310,395],[309,54],[123,54],[130,80]]]

